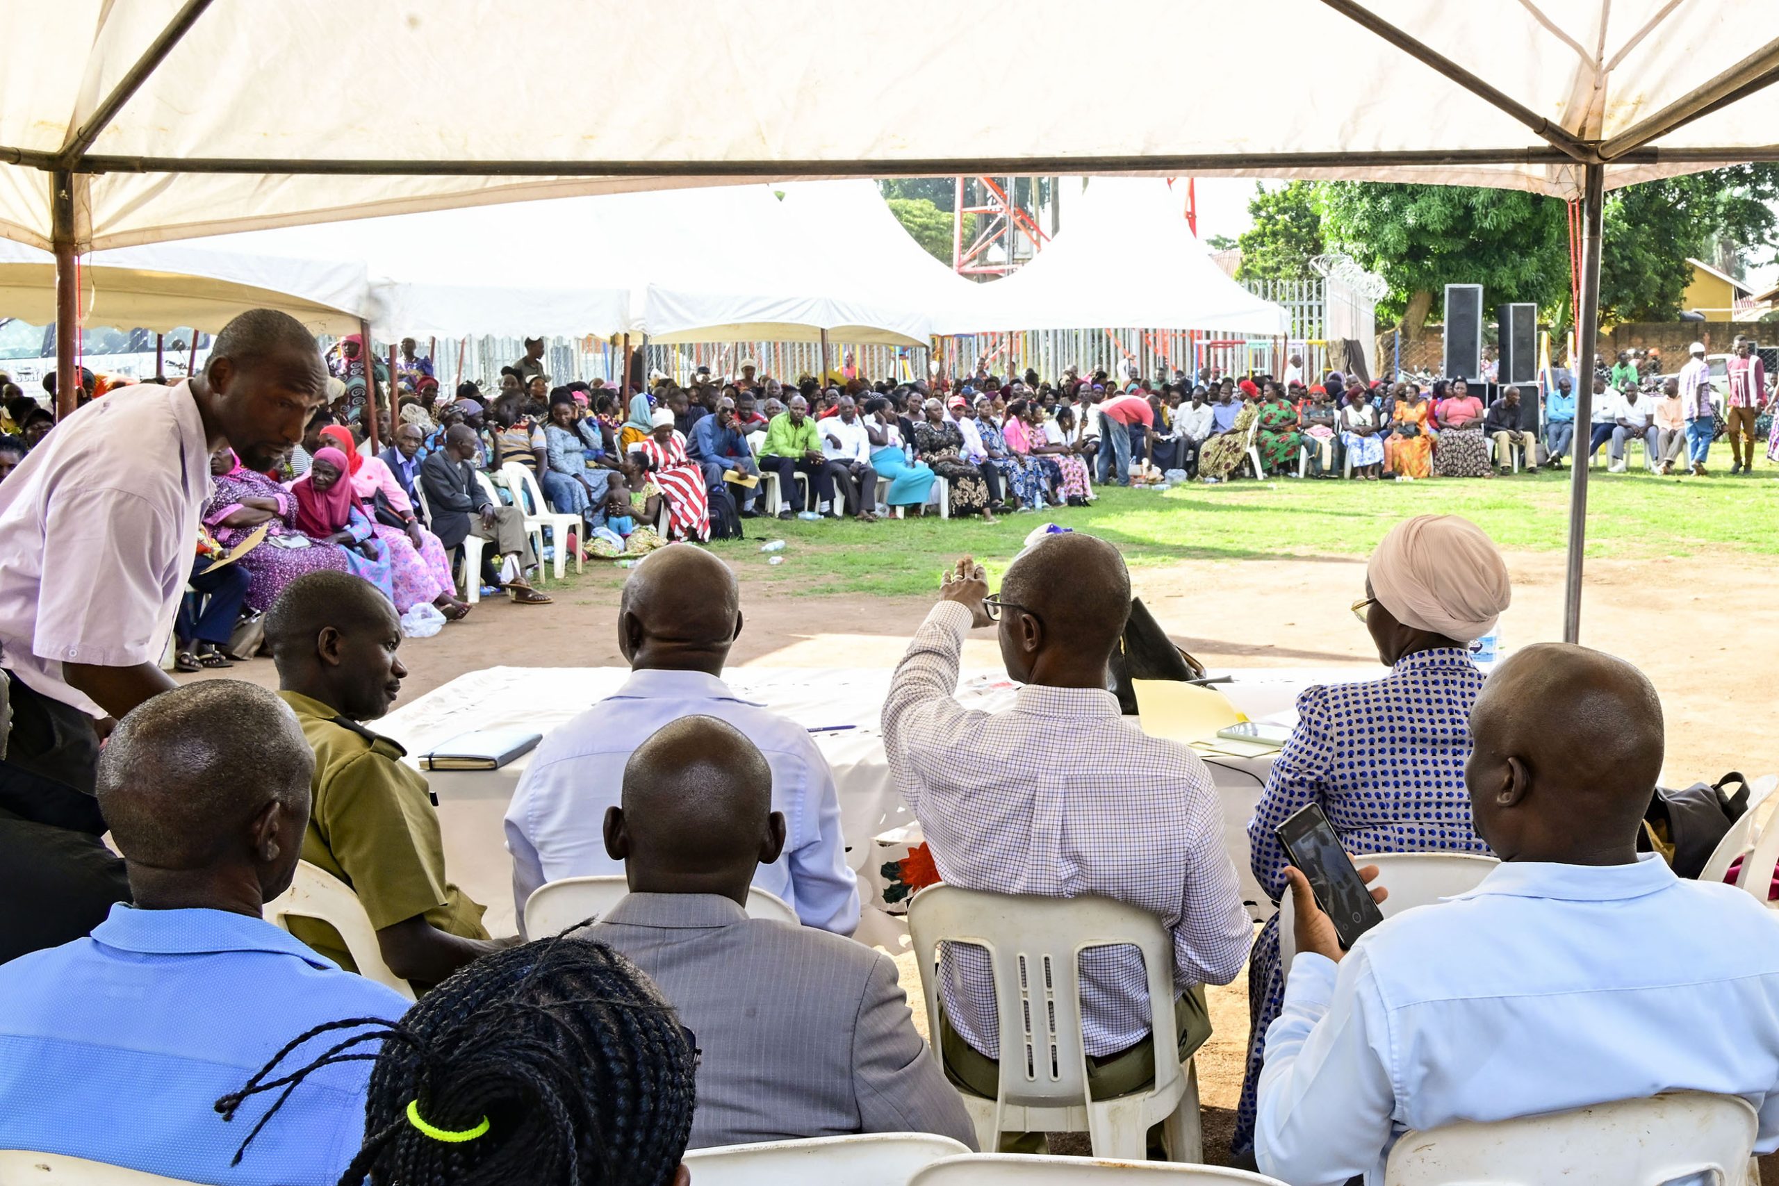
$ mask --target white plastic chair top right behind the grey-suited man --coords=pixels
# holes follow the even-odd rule
[[[692,1149],[685,1166],[697,1186],[904,1186],[923,1165],[968,1152],[950,1136],[866,1133]]]

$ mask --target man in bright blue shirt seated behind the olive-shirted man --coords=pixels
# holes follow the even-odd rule
[[[112,733],[98,800],[135,905],[93,935],[0,966],[0,1149],[187,1182],[333,1186],[365,1129],[368,1063],[311,1074],[229,1159],[274,1094],[215,1102],[286,1042],[407,1001],[262,921],[290,885],[311,757],[276,695],[235,679],[146,701]],[[302,1065],[340,1040],[311,1038]],[[370,1047],[372,1051],[375,1047]]]

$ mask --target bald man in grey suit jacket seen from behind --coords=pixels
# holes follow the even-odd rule
[[[648,973],[696,1035],[690,1147],[939,1133],[975,1149],[895,964],[840,935],[747,918],[754,866],[783,846],[767,759],[715,717],[681,717],[639,745],[623,805],[605,814],[630,894],[584,934]]]

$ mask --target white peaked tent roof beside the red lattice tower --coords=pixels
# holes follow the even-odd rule
[[[1283,306],[1229,279],[1160,178],[1094,178],[1064,203],[1062,229],[1007,279],[977,284],[938,333],[1208,329],[1290,333]]]

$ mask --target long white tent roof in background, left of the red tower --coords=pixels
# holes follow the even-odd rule
[[[815,341],[827,329],[882,345],[927,336],[920,306],[870,299],[865,284],[836,274],[765,185],[443,210],[194,247],[359,260],[377,297],[372,327],[384,336]]]

